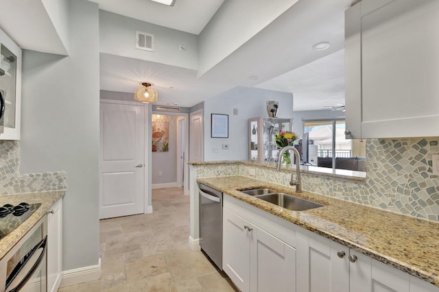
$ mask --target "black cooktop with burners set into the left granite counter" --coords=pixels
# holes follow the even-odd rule
[[[32,215],[41,204],[27,204],[25,202],[16,206],[5,204],[0,207],[0,239],[3,239],[12,230],[23,223]]]

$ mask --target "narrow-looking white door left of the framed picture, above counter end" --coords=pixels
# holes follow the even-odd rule
[[[190,117],[189,161],[203,161],[203,111],[191,112]]]

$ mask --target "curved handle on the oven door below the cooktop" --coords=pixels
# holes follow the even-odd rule
[[[34,276],[43,262],[47,249],[47,236],[35,246],[32,254],[29,254],[23,264],[17,265],[6,281],[5,292],[20,291],[26,282]],[[10,279],[10,280],[9,280]]]

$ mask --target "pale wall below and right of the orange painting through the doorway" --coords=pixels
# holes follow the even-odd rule
[[[165,115],[163,121],[169,122],[169,151],[152,152],[152,184],[165,184],[177,181],[177,118]],[[159,175],[159,171],[162,175]]]

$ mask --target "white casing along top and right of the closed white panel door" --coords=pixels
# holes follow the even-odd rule
[[[150,198],[152,197],[151,195],[151,167],[150,167],[150,161],[151,161],[151,117],[150,117],[150,112],[151,112],[151,105],[150,104],[142,104],[139,101],[123,101],[123,100],[116,100],[116,99],[99,99],[99,107],[100,104],[125,104],[128,106],[141,106],[143,107],[143,114],[144,114],[144,141],[145,141],[145,153],[144,155],[144,159],[145,159],[145,165],[144,165],[144,169],[145,169],[145,175],[144,175],[144,184],[143,184],[143,213],[152,213],[152,204],[150,205]],[[148,118],[149,117],[149,118]],[[100,143],[100,142],[99,142]],[[100,145],[99,145],[100,147]],[[100,191],[100,190],[99,190]]]

